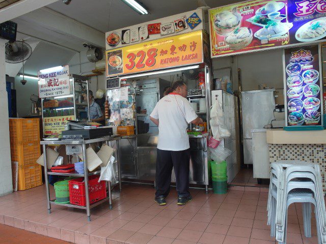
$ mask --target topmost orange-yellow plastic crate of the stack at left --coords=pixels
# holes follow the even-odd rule
[[[10,143],[40,141],[39,118],[10,118]]]

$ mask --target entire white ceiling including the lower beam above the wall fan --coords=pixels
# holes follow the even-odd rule
[[[76,51],[85,50],[82,45],[84,42],[102,42],[100,44],[103,45],[98,46],[104,47],[104,33],[107,31],[191,11],[198,7],[196,0],[140,1],[150,14],[139,15],[121,0],[72,0],[70,5],[65,5],[60,0],[13,19],[18,24],[17,40],[21,37],[26,39],[27,35],[40,41],[25,63],[25,74],[36,75],[42,68],[67,64]],[[206,0],[211,8],[236,2],[240,1]],[[82,36],[76,35],[78,32]]]

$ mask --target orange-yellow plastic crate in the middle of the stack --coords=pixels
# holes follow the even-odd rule
[[[18,162],[18,166],[36,164],[41,156],[41,146],[39,142],[10,144],[11,161]]]

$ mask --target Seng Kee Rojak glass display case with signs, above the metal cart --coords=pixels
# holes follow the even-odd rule
[[[69,67],[65,66],[64,75],[51,77],[53,71],[39,72],[40,98],[42,105],[43,134],[55,136],[65,130],[68,120],[88,121],[89,78],[69,74]]]

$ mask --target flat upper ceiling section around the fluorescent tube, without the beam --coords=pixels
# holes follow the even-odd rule
[[[111,2],[111,11],[110,11]],[[141,0],[150,14],[139,15],[121,0],[72,0],[70,5],[62,1],[50,4],[47,8],[87,24],[103,33],[126,26],[147,22],[196,9],[196,0]],[[224,6],[239,0],[206,0],[211,8]],[[108,22],[110,13],[110,25]]]

